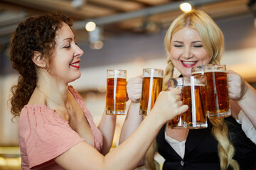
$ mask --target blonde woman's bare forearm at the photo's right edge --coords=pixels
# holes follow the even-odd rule
[[[256,90],[245,82],[245,95],[236,102],[256,128]]]

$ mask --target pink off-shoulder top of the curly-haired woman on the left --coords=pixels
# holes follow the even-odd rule
[[[94,147],[102,149],[102,132],[96,127],[92,115],[85,106],[80,94],[73,86],[69,91],[80,104],[94,137]],[[63,169],[54,162],[55,157],[84,141],[68,121],[46,105],[26,105],[18,122],[19,145],[21,148],[21,167],[27,169]]]

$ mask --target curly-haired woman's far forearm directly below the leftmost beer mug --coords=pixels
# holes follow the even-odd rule
[[[103,148],[102,154],[105,155],[110,152],[110,148],[112,146],[114,130],[116,126],[116,115],[105,115],[103,113],[102,120],[100,120],[100,125],[98,128],[102,132],[103,135]]]

